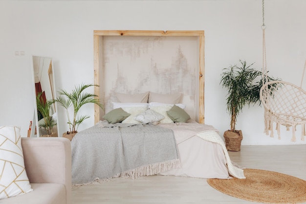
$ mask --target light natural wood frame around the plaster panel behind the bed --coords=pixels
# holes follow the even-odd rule
[[[199,97],[198,97],[198,122],[204,123],[204,31],[156,31],[156,30],[94,30],[94,84],[103,83],[104,66],[103,66],[103,38],[106,36],[180,36],[180,37],[198,37],[199,49]],[[95,87],[94,93],[104,98],[104,92],[99,87]],[[100,120],[104,111],[95,105],[94,122]]]

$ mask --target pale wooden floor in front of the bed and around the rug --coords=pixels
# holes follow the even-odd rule
[[[229,155],[245,168],[306,180],[306,145],[241,146],[240,152]],[[215,190],[206,179],[174,176],[117,178],[73,188],[72,197],[73,204],[254,204]]]

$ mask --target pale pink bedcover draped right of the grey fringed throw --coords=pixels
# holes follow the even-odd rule
[[[227,152],[224,152],[226,151],[224,145],[219,144],[223,141],[213,126],[195,121],[158,125],[173,130],[181,162],[181,168],[162,172],[159,175],[230,179],[229,172],[232,172],[237,178],[245,178],[243,170],[232,165]],[[216,137],[219,143],[208,141],[209,139],[205,138],[206,133],[208,137]]]

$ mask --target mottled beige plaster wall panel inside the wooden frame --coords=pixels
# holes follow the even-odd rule
[[[181,103],[193,119],[198,111],[198,37],[104,36],[105,111],[115,92],[183,93]]]

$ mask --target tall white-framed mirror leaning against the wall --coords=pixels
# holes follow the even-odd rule
[[[35,109],[31,137],[58,136],[52,58],[33,55],[32,67]]]

